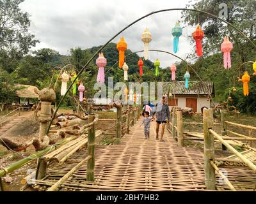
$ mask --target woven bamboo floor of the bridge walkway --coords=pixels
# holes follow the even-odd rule
[[[96,146],[95,182],[86,182],[84,164],[61,185],[60,191],[205,191],[203,150],[177,147],[177,142],[167,131],[164,133],[164,143],[155,140],[155,122],[150,128],[150,139],[145,140],[140,122],[122,138],[120,145]],[[85,157],[86,151],[81,150],[65,164],[49,168],[47,177],[34,180],[38,184],[37,189],[44,191],[51,187],[76,166],[79,162],[77,159]],[[256,174],[251,170],[225,170],[228,179],[235,182],[238,190],[253,190]],[[229,191],[218,178],[216,175],[217,189]]]

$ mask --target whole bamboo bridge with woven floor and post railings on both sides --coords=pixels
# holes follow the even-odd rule
[[[116,119],[94,117],[92,122],[88,117],[91,122],[84,126],[83,135],[70,138],[41,157],[36,171],[22,180],[23,189],[31,186],[36,191],[256,190],[256,149],[252,145],[255,127],[227,121],[224,110],[220,124],[214,124],[212,110],[204,111],[202,122],[184,122],[182,111],[173,108],[172,122],[164,132],[165,142],[159,142],[155,140],[155,122],[150,127],[150,138],[144,139],[139,106],[116,109]],[[97,144],[97,138],[104,134],[95,129],[100,120],[115,122],[119,144]],[[185,126],[192,124],[204,128],[201,132],[184,131]],[[220,125],[218,134],[214,126]],[[228,125],[247,129],[249,136],[231,131]],[[202,140],[204,149],[184,147],[186,140]],[[214,150],[214,143],[223,145],[224,150]],[[244,150],[238,152],[232,145]]]

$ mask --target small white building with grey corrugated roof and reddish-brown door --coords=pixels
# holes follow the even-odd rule
[[[185,82],[171,82],[168,105],[201,112],[202,107],[211,107],[211,97],[214,97],[213,82],[190,81],[188,89],[185,89]]]

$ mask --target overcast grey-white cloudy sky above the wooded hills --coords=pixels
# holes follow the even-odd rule
[[[31,33],[40,40],[36,49],[52,48],[67,55],[70,48],[103,45],[126,25],[147,13],[166,8],[184,8],[187,3],[187,0],[25,0],[20,4],[20,8],[29,13]],[[150,15],[129,27],[113,42],[117,43],[120,36],[124,36],[132,52],[143,50],[141,34],[145,27],[148,27],[152,34],[150,48],[173,52],[171,29],[177,20],[181,20],[180,17],[180,11]],[[179,57],[185,58],[191,52],[189,40],[194,29],[183,29],[180,51],[177,52]],[[163,67],[179,61],[168,54],[150,52],[150,60],[155,61],[156,58],[159,58]]]

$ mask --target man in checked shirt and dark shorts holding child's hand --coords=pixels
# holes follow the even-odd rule
[[[170,110],[169,110],[169,106],[166,104],[165,96],[163,96],[162,100],[157,102],[156,106],[154,107],[153,114],[152,114],[153,119],[155,114],[156,114],[156,140],[159,139],[158,137],[159,126],[160,124],[162,124],[160,142],[164,142],[163,135],[164,135],[165,124],[168,121],[170,121]]]

